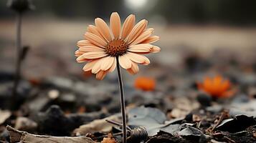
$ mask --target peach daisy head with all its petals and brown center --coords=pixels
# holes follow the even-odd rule
[[[96,74],[96,79],[103,79],[108,72],[114,71],[116,60],[131,74],[138,73],[138,64],[148,65],[149,59],[143,54],[160,51],[151,43],[158,41],[158,36],[151,36],[153,29],[147,29],[145,19],[135,25],[135,16],[128,16],[121,27],[117,12],[110,16],[110,27],[103,19],[95,19],[95,26],[87,26],[85,39],[77,41],[79,49],[75,51],[77,62],[85,62],[84,71]]]

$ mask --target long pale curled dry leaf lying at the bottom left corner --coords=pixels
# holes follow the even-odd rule
[[[10,134],[11,142],[29,142],[29,143],[63,143],[63,142],[75,142],[75,143],[95,143],[88,137],[52,137],[42,136],[36,134],[29,134],[28,132],[22,132],[16,130],[10,126],[6,127]]]

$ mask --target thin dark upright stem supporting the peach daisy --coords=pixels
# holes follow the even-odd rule
[[[118,71],[118,83],[120,89],[120,105],[121,105],[121,114],[122,114],[122,124],[123,124],[123,143],[126,143],[127,132],[126,132],[126,114],[125,114],[125,99],[123,94],[123,81],[118,61],[118,56],[116,56],[116,69]]]

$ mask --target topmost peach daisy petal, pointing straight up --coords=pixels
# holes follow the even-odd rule
[[[121,20],[117,12],[113,12],[110,16],[110,27],[113,32],[114,38],[119,39],[121,30]]]

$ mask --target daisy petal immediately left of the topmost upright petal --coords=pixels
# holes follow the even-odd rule
[[[95,19],[95,26],[99,30],[100,34],[104,37],[106,41],[111,41],[112,37],[110,35],[110,29],[108,25],[103,21],[103,19]]]

